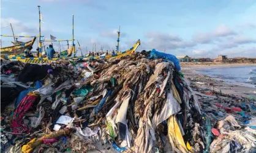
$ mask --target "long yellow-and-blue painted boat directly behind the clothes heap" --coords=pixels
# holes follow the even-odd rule
[[[94,56],[94,57],[89,57],[89,56],[78,56],[78,57],[60,57],[60,58],[48,58],[48,57],[18,57],[15,55],[5,55],[3,58],[4,59],[9,59],[9,60],[19,60],[21,62],[26,62],[26,63],[47,63],[47,62],[56,62],[60,59],[65,60],[65,59],[73,59],[73,60],[78,60],[78,59],[101,59],[101,58],[117,58],[120,59],[123,56],[134,54],[136,49],[140,46],[140,40],[137,41],[136,44],[130,49],[127,49],[127,51],[122,51],[118,52],[117,54],[109,54],[109,55],[100,55],[100,56]],[[72,49],[70,49],[72,51]],[[70,52],[70,51],[69,51]],[[2,55],[1,55],[2,56]]]

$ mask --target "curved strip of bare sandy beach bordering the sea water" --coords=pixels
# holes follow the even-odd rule
[[[232,85],[223,82],[222,80],[216,80],[209,76],[201,75],[197,73],[197,70],[202,68],[228,68],[228,67],[241,67],[241,66],[256,66],[256,64],[224,64],[224,63],[181,63],[182,70],[186,79],[190,80],[192,87],[200,88],[200,92],[205,91],[217,91],[224,94],[234,94],[237,96],[248,97],[252,96],[256,98],[255,87],[244,87],[242,85]]]

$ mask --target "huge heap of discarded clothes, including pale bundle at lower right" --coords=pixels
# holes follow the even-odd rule
[[[209,152],[224,138],[228,151],[255,147],[254,129],[234,133],[243,141],[229,134],[243,128],[233,116],[213,135],[216,124],[173,55],[1,62],[1,151]]]

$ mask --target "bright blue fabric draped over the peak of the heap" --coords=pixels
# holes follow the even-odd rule
[[[179,60],[175,55],[167,54],[164,52],[158,52],[156,49],[152,49],[148,59],[165,59],[170,60],[174,63],[176,71],[181,71],[181,66],[179,66]]]

